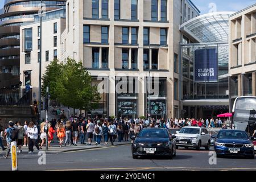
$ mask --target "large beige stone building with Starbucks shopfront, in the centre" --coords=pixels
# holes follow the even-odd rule
[[[179,59],[180,24],[200,13],[191,1],[68,0],[66,9],[61,59],[82,60],[94,82],[101,82],[97,78],[102,76],[110,88],[102,94],[99,109],[88,113],[91,117],[148,115],[149,103],[152,118],[179,116],[174,64]],[[145,91],[149,72],[157,93]],[[118,87],[124,90],[117,92]]]

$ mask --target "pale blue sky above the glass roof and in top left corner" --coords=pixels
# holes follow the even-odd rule
[[[2,8],[4,2],[5,0],[0,0],[0,8]],[[210,3],[216,5],[217,11],[239,11],[253,5],[256,0],[192,0],[192,2],[200,9],[201,14],[205,14],[212,9],[209,7]]]

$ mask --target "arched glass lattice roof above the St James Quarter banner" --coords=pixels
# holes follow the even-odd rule
[[[186,32],[199,43],[228,43],[229,16],[233,12],[214,12],[197,16],[181,24],[181,32]]]

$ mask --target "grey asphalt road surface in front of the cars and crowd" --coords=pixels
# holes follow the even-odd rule
[[[213,148],[211,147],[211,150]],[[212,161],[209,151],[201,148],[180,148],[171,160],[160,157],[133,159],[131,146],[115,145],[88,150],[48,154],[45,163],[40,155],[18,155],[19,171],[256,171],[256,159],[217,158]],[[0,159],[0,170],[10,171],[11,160]]]

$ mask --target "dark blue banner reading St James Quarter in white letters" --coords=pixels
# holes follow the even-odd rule
[[[195,82],[218,81],[218,54],[216,48],[195,51]]]

